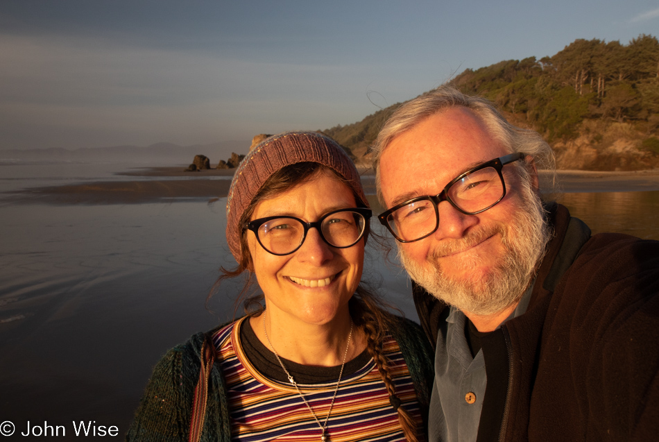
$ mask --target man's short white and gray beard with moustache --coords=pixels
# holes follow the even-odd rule
[[[521,207],[512,214],[512,221],[507,225],[484,226],[464,238],[444,243],[431,250],[422,264],[406,256],[404,246],[399,245],[400,262],[411,278],[436,298],[471,314],[491,315],[517,303],[534,278],[551,237],[540,198],[529,185],[521,187],[524,187],[520,195]],[[441,269],[439,256],[464,250],[497,234],[505,252],[488,275],[480,280],[456,280]],[[463,266],[468,270],[478,264],[477,260],[478,257],[465,260]]]

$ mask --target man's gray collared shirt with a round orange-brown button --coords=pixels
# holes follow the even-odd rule
[[[533,284],[524,292],[511,318],[524,314]],[[451,307],[440,327],[435,353],[435,381],[430,399],[428,437],[435,441],[475,441],[487,386],[483,350],[472,357],[465,337],[467,317]],[[501,325],[499,325],[501,327]]]

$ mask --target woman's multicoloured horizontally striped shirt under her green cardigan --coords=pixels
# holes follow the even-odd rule
[[[320,441],[320,427],[295,387],[259,373],[246,357],[239,339],[244,319],[227,325],[213,337],[228,387],[232,440]],[[416,393],[400,348],[389,335],[383,348],[390,361],[396,394],[420,425]],[[337,380],[298,384],[320,423],[325,423]],[[327,421],[327,433],[332,442],[406,440],[373,358],[357,371],[343,373]]]

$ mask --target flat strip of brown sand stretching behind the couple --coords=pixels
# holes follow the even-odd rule
[[[230,177],[235,172],[235,169],[209,169],[198,172],[185,172],[183,169],[184,167],[130,169],[117,175],[163,179],[94,181],[77,185],[35,187],[8,192],[3,201],[54,205],[141,204],[175,198],[207,198],[212,201],[227,196],[231,185],[229,179],[217,179],[217,177]],[[375,194],[373,171],[360,169],[360,173],[367,194]],[[545,176],[546,174],[541,171],[541,189],[547,188]],[[187,179],[179,179],[180,177]],[[611,172],[558,171],[558,191],[563,193],[659,191],[659,169]]]

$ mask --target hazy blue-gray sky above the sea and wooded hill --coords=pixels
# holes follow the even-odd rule
[[[326,129],[467,68],[643,33],[656,0],[2,0],[0,149]]]

